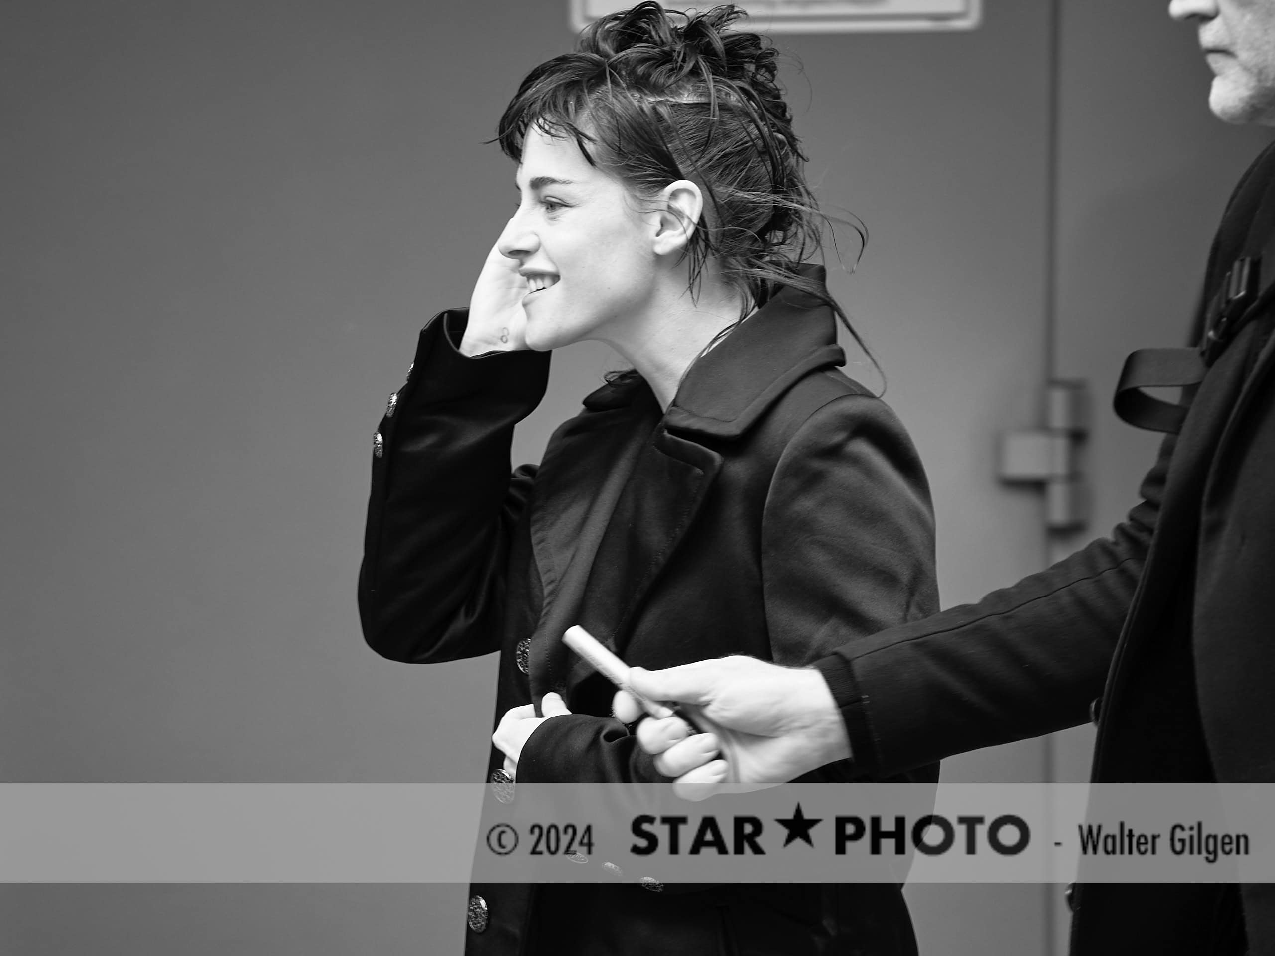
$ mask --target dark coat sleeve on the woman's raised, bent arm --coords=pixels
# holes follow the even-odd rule
[[[468,310],[421,330],[372,459],[358,611],[379,654],[409,663],[499,650],[505,566],[534,467],[510,473],[514,424],[539,403],[550,356],[468,358]]]

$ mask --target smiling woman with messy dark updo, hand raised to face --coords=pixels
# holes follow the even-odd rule
[[[518,210],[375,436],[363,634],[394,660],[500,651],[497,783],[664,779],[562,644],[572,625],[646,668],[802,665],[937,609],[924,474],[835,370],[805,157],[740,15],[643,3],[527,76],[497,136]],[[632,370],[511,474],[548,351],[581,339]],[[467,951],[915,952],[894,885],[659,888],[476,886]]]

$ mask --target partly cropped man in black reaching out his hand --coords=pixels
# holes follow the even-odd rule
[[[1169,13],[1198,28],[1214,113],[1275,125],[1275,0]],[[1167,437],[1111,538],[977,604],[847,639],[813,668],[727,658],[635,670],[634,688],[701,705],[752,783],[844,757],[886,776],[1090,718],[1095,781],[1275,781],[1275,148],[1232,195],[1205,303],[1198,348],[1126,365],[1117,412]],[[1139,390],[1170,384],[1188,404]],[[673,719],[639,737],[680,784],[724,779],[713,734]],[[1246,936],[1247,952],[1275,953],[1275,885],[1095,883],[1072,905],[1086,956],[1242,953]]]

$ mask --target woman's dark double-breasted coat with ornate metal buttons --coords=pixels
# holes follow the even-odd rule
[[[513,477],[513,427],[550,357],[465,358],[451,344],[465,319],[426,325],[381,422],[360,609],[394,660],[499,650],[496,720],[564,695],[572,714],[527,742],[520,781],[662,779],[608,716],[613,688],[562,645],[571,625],[648,668],[738,653],[798,665],[937,609],[921,463],[889,408],[835,370],[826,306],[783,291],[692,366],[666,414],[635,375],[599,389]],[[501,761],[493,748],[490,770]],[[487,914],[473,953],[915,947],[892,885],[474,891]]]

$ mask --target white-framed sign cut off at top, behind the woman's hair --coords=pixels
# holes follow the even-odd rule
[[[717,0],[663,0],[669,9],[708,10]],[[571,22],[581,29],[638,0],[571,0]],[[747,29],[762,33],[854,33],[867,31],[973,29],[983,0],[740,0]]]

